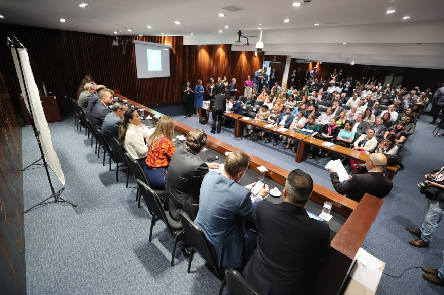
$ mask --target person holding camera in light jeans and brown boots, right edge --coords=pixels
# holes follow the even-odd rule
[[[429,247],[432,235],[444,214],[444,167],[435,172],[435,174],[425,175],[426,180],[418,184],[419,191],[427,198],[428,209],[420,229],[407,227],[407,231],[419,237],[409,242],[415,247]]]

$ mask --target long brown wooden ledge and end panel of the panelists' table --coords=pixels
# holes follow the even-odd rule
[[[119,97],[119,100],[128,100],[129,103],[145,109],[144,112],[147,115],[163,116],[163,114],[131,101],[122,95],[115,95]],[[239,119],[236,121],[239,121]],[[174,129],[183,134],[187,134],[193,130],[193,128],[177,121]],[[226,151],[240,150],[210,135],[208,135],[208,141],[208,147],[221,154],[225,154]],[[269,170],[265,174],[267,178],[281,185],[285,185],[285,180],[290,173],[289,171],[259,159],[255,155],[249,155],[251,158],[250,169],[258,171],[257,167],[265,166],[265,168]],[[315,294],[337,294],[347,279],[347,272],[353,258],[361,247],[383,201],[375,196],[365,194],[361,202],[357,203],[317,184],[314,184],[313,194],[310,200],[318,204],[329,201],[333,204],[332,211],[347,218],[344,225],[332,240],[331,247],[327,250],[326,258],[322,265],[323,267],[319,267],[318,272],[315,274],[316,283],[313,289],[313,293]],[[324,271],[324,269],[331,271]]]

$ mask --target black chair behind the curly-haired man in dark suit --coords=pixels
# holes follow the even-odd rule
[[[151,225],[150,225],[150,237],[148,241],[151,243],[151,237],[153,234],[153,227],[157,220],[162,220],[171,235],[174,237],[174,247],[171,255],[171,266],[174,266],[174,257],[176,255],[177,243],[185,240],[185,234],[182,228],[182,225],[179,222],[176,222],[170,217],[168,211],[164,210],[161,200],[158,195],[153,191],[148,185],[146,185],[143,181],[137,180],[137,186],[139,187],[139,191],[144,198],[145,204],[147,204],[148,211],[151,215]]]

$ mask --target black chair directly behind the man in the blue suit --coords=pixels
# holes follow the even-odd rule
[[[179,219],[182,223],[182,227],[184,229],[186,238],[188,243],[191,245],[191,253],[188,260],[188,268],[187,273],[190,273],[191,263],[193,261],[194,253],[196,251],[202,256],[202,258],[206,261],[208,269],[215,274],[219,279],[222,279],[222,284],[219,289],[219,294],[222,294],[223,287],[225,285],[225,279],[223,278],[223,270],[219,268],[219,265],[216,263],[216,259],[211,250],[211,244],[208,241],[205,233],[199,226],[194,223],[187,213],[180,210]]]

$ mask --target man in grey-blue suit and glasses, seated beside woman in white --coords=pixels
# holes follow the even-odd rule
[[[116,143],[113,140],[113,137],[116,139],[119,138],[119,127],[120,122],[123,119],[123,114],[127,111],[127,106],[122,103],[115,103],[111,107],[111,113],[106,115],[105,120],[102,125],[102,133],[103,137],[105,137],[108,146],[110,147],[110,151],[113,154],[113,159],[118,161],[118,163],[124,163],[123,159],[118,158],[118,153],[115,152]]]

